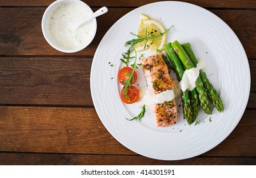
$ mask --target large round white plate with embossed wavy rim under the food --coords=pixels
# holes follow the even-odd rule
[[[220,93],[223,113],[213,109],[213,114],[207,115],[201,109],[199,124],[189,126],[181,111],[176,125],[167,128],[156,127],[148,109],[142,121],[125,119],[137,116],[140,108],[121,101],[117,72],[123,67],[119,58],[127,50],[124,43],[134,38],[130,32],[137,32],[140,13],[159,20],[166,29],[174,25],[167,33],[167,42],[190,42],[197,57],[206,60],[205,71]],[[137,83],[145,85],[141,71],[137,72]],[[210,11],[177,1],[147,4],[120,18],[100,42],[91,67],[91,94],[103,125],[128,149],[159,160],[191,158],[220,144],[243,116],[249,93],[248,59],[236,34]]]

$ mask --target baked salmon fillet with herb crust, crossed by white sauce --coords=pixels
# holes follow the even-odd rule
[[[162,53],[140,58],[144,76],[147,82],[147,91],[154,97],[159,93],[174,89],[174,83],[170,78],[168,67],[165,64]],[[163,103],[154,103],[151,107],[157,127],[167,127],[177,121],[176,100],[167,100]]]

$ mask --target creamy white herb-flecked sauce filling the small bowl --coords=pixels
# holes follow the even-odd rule
[[[94,31],[93,20],[73,30],[70,23],[79,22],[89,15],[89,10],[75,2],[61,3],[52,12],[49,31],[56,44],[65,50],[73,50],[82,46],[91,38]]]

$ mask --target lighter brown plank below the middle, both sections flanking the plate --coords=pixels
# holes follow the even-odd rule
[[[0,151],[136,155],[107,132],[93,108],[0,106]],[[255,110],[202,156],[256,157]]]

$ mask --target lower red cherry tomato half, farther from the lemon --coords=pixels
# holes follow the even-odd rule
[[[126,93],[127,93],[127,97],[124,97],[124,88],[123,88],[121,92],[121,99],[126,104],[132,104],[134,102],[137,102],[137,100],[139,99],[139,90],[137,90],[135,86],[128,87],[126,90]]]

